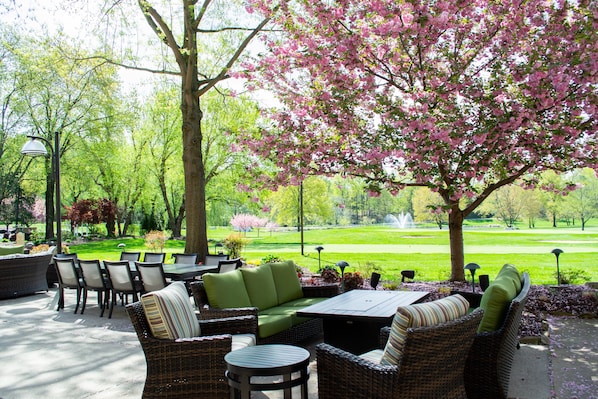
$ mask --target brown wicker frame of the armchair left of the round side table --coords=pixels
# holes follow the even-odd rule
[[[166,340],[152,336],[141,302],[126,309],[145,354],[144,399],[229,397],[224,355],[231,351],[231,334],[257,334],[255,317],[199,320],[201,337]]]

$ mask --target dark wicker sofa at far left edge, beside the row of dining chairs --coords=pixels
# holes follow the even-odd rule
[[[0,299],[48,291],[46,272],[51,260],[50,252],[0,256]]]

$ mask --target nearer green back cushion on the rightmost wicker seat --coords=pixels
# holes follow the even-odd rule
[[[480,307],[484,309],[484,316],[478,327],[478,332],[498,330],[516,295],[517,291],[511,276],[497,277],[482,295]]]

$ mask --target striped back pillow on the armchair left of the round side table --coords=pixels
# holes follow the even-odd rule
[[[141,304],[155,338],[178,339],[201,335],[199,322],[182,281],[142,295]]]

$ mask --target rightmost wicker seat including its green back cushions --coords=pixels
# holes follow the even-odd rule
[[[514,290],[510,290],[509,283],[515,285]],[[506,264],[483,295],[477,295],[473,302],[472,294],[467,296],[472,307],[479,305],[484,309],[484,318],[465,364],[469,399],[507,398],[513,357],[519,348],[521,313],[529,290],[529,274],[519,274],[513,265]]]

